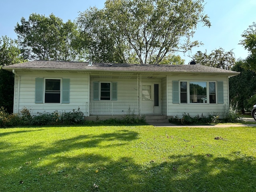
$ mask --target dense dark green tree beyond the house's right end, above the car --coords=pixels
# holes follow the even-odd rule
[[[250,100],[256,94],[256,73],[244,69],[243,65],[244,62],[238,60],[232,68],[240,74],[229,78],[229,97],[232,107],[244,114],[252,108]]]

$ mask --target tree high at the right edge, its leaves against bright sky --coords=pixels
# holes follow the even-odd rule
[[[244,67],[256,72],[256,23],[253,22],[242,34],[240,44],[248,50],[249,55],[244,62]]]

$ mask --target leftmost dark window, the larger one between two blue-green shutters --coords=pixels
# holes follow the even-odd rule
[[[60,80],[46,79],[45,80],[45,103],[60,103]]]

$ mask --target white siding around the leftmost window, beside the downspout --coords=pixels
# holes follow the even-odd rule
[[[14,113],[26,106],[31,110],[32,115],[37,112],[70,112],[73,109],[86,113],[88,110],[88,74],[63,74],[63,73],[19,73],[20,84],[16,78],[16,86],[14,93]],[[64,104],[44,104],[35,103],[35,78],[70,78],[70,103]],[[18,94],[18,86],[20,92]],[[18,98],[19,96],[19,98]],[[19,104],[17,102],[19,101]]]

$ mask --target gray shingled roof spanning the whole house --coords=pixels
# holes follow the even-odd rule
[[[35,60],[3,67],[6,70],[84,70],[84,71],[127,71],[127,72],[184,72],[184,73],[217,73],[226,76],[234,76],[239,72],[203,65],[141,65],[141,64],[116,64],[116,63],[92,63],[44,61]]]

